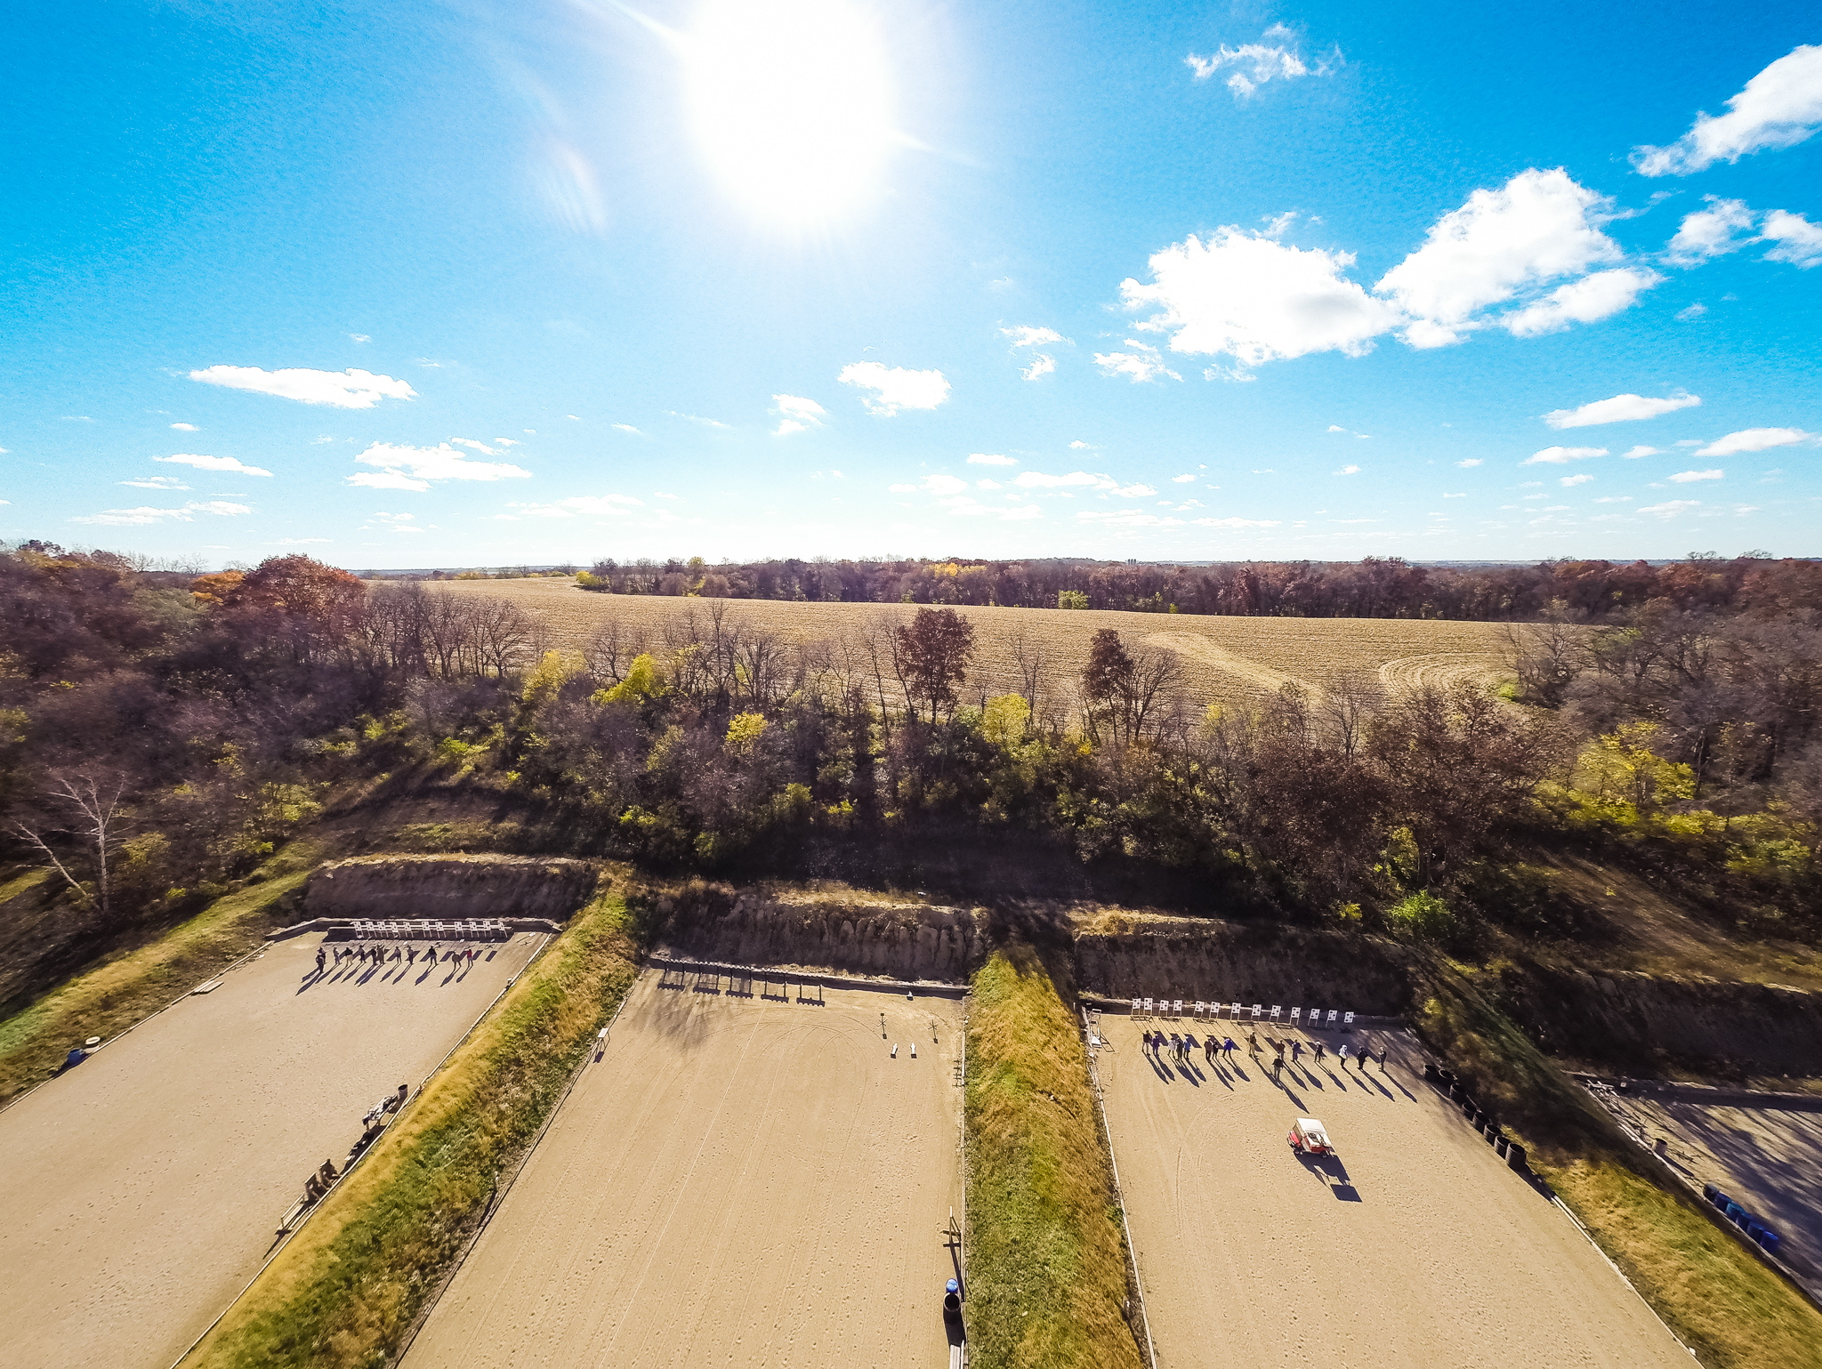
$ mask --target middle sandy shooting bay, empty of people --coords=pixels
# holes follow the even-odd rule
[[[947,1364],[962,1004],[760,990],[640,977],[410,1369]]]

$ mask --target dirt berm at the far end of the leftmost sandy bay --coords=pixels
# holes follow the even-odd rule
[[[310,917],[548,917],[594,890],[587,860],[525,855],[363,855],[310,871]]]

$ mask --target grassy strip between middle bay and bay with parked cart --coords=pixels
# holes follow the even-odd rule
[[[975,975],[966,1139],[969,1364],[1141,1369],[1088,1054],[1024,946]]]

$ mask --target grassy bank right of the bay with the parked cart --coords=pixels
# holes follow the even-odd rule
[[[1822,1312],[1653,1174],[1612,1117],[1465,979],[1432,964],[1425,981],[1419,1034],[1707,1369],[1822,1369]]]

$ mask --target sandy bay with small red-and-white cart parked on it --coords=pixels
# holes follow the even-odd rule
[[[1106,1015],[1099,1068],[1162,1369],[1689,1369],[1571,1220],[1423,1083],[1408,1035],[1365,1034],[1392,1052],[1383,1076],[1330,1055],[1279,1088],[1235,1024],[1233,1065],[1197,1052],[1190,1072],[1144,1055],[1146,1024]],[[1352,1055],[1363,1034],[1323,1039]],[[1299,1116],[1337,1158],[1290,1150]]]

